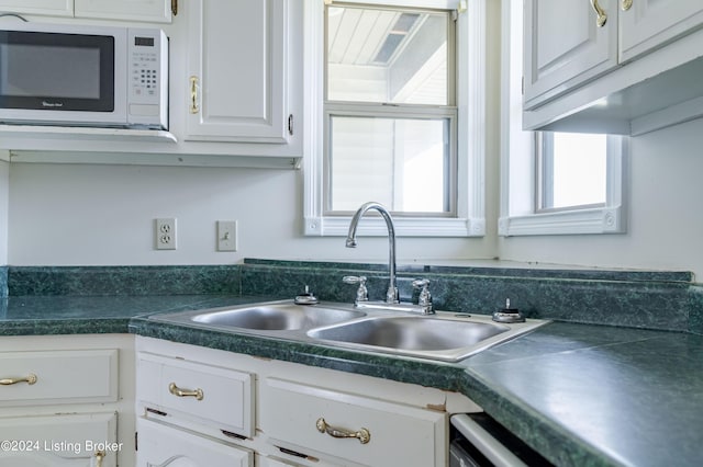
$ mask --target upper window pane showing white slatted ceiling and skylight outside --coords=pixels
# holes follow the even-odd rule
[[[448,105],[448,13],[327,8],[328,101]]]

